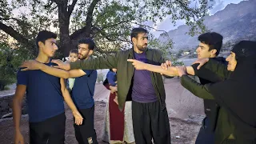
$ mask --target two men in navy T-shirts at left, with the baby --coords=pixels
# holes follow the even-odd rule
[[[56,64],[51,57],[58,50],[56,37],[50,31],[39,32],[36,38],[39,54],[34,60],[38,64],[37,70],[22,68],[18,71],[14,96],[15,144],[24,143],[19,125],[25,93],[29,107],[30,143],[64,144],[66,116],[63,98],[74,114],[74,131],[78,143],[98,143],[94,130],[93,98],[97,71],[54,68]],[[90,59],[94,47],[94,41],[90,38],[78,41],[78,58]],[[71,50],[70,61],[76,57]],[[70,93],[64,78],[75,78]]]

